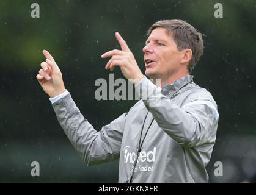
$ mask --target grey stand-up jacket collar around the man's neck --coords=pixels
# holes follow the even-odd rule
[[[180,88],[184,87],[189,82],[192,82],[193,77],[194,76],[188,74],[185,77],[182,77],[178,80],[175,80],[175,82],[172,83],[172,84],[165,83],[162,90],[161,90],[161,93],[164,96],[172,96],[177,90],[180,90]]]

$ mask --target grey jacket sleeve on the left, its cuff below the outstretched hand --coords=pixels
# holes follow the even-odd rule
[[[97,165],[119,158],[126,113],[97,132],[80,113],[68,94],[53,104],[65,134],[87,165]]]

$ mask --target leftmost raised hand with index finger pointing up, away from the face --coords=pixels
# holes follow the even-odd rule
[[[65,86],[59,66],[57,66],[53,56],[46,50],[43,50],[43,55],[46,57],[46,62],[41,63],[42,69],[39,70],[36,78],[42,86],[43,91],[53,98],[64,93]]]

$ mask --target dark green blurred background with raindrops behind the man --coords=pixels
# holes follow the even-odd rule
[[[40,18],[31,18],[31,4]],[[222,3],[224,18],[214,18]],[[136,101],[97,101],[95,80],[108,79],[100,55],[119,48],[119,31],[145,71],[146,31],[160,19],[184,19],[205,34],[192,72],[218,104],[218,137],[210,182],[242,182],[256,173],[256,1],[0,0],[0,182],[117,182],[119,162],[86,166],[59,126],[35,79],[43,49],[53,54],[73,99],[100,130]],[[123,77],[119,69],[115,79]],[[31,176],[31,162],[40,177]],[[224,176],[214,176],[214,163]]]

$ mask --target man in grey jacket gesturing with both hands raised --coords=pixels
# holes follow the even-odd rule
[[[143,48],[145,75],[161,79],[161,88],[142,74],[118,32],[115,37],[122,50],[101,55],[111,57],[105,68],[113,71],[119,66],[141,98],[147,93],[99,132],[81,115],[56,62],[43,51],[46,62],[37,80],[51,97],[67,137],[87,165],[119,158],[119,182],[208,182],[205,166],[219,114],[211,94],[189,75],[203,52],[202,35],[181,20],[158,21],[150,27]]]

